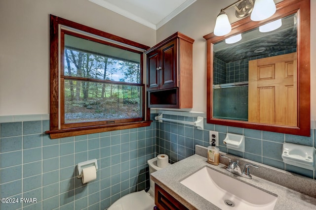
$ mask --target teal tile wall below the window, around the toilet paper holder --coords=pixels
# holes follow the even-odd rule
[[[1,210],[104,210],[130,192],[149,188],[147,160],[156,155],[151,126],[50,139],[49,120],[0,123]],[[96,158],[97,180],[82,184],[77,164]]]

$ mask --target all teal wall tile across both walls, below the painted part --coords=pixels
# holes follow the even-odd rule
[[[194,121],[199,114],[152,111],[151,117]],[[201,114],[205,117],[205,114]],[[1,120],[2,119],[2,120]],[[172,163],[195,153],[195,145],[209,145],[209,130],[219,132],[220,150],[246,159],[315,179],[315,171],[284,164],[282,143],[316,146],[311,137],[207,124],[192,125],[153,121],[151,126],[50,139],[43,132],[49,120],[0,119],[0,198],[36,198],[36,203],[4,203],[0,209],[107,209],[130,192],[149,188],[147,160],[166,153]],[[9,119],[9,118],[5,118]],[[245,136],[245,151],[227,150],[226,133]],[[82,184],[77,164],[96,158],[97,180]]]

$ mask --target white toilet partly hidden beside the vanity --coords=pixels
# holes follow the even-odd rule
[[[149,165],[150,174],[161,169],[157,166],[157,157],[148,160],[147,163]],[[168,165],[170,165],[170,163]],[[114,202],[108,210],[153,210],[154,207],[155,182],[150,179],[148,192],[142,190],[125,195]]]

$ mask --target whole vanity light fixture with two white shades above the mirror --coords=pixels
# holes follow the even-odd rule
[[[221,9],[216,18],[214,34],[223,36],[231,32],[232,27],[228,15],[224,10],[235,7],[236,17],[244,18],[251,14],[252,21],[262,21],[271,17],[276,12],[276,4],[273,0],[237,0],[235,3]]]

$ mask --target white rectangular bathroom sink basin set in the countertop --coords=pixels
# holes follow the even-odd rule
[[[180,182],[222,210],[273,210],[277,196],[204,167]]]

